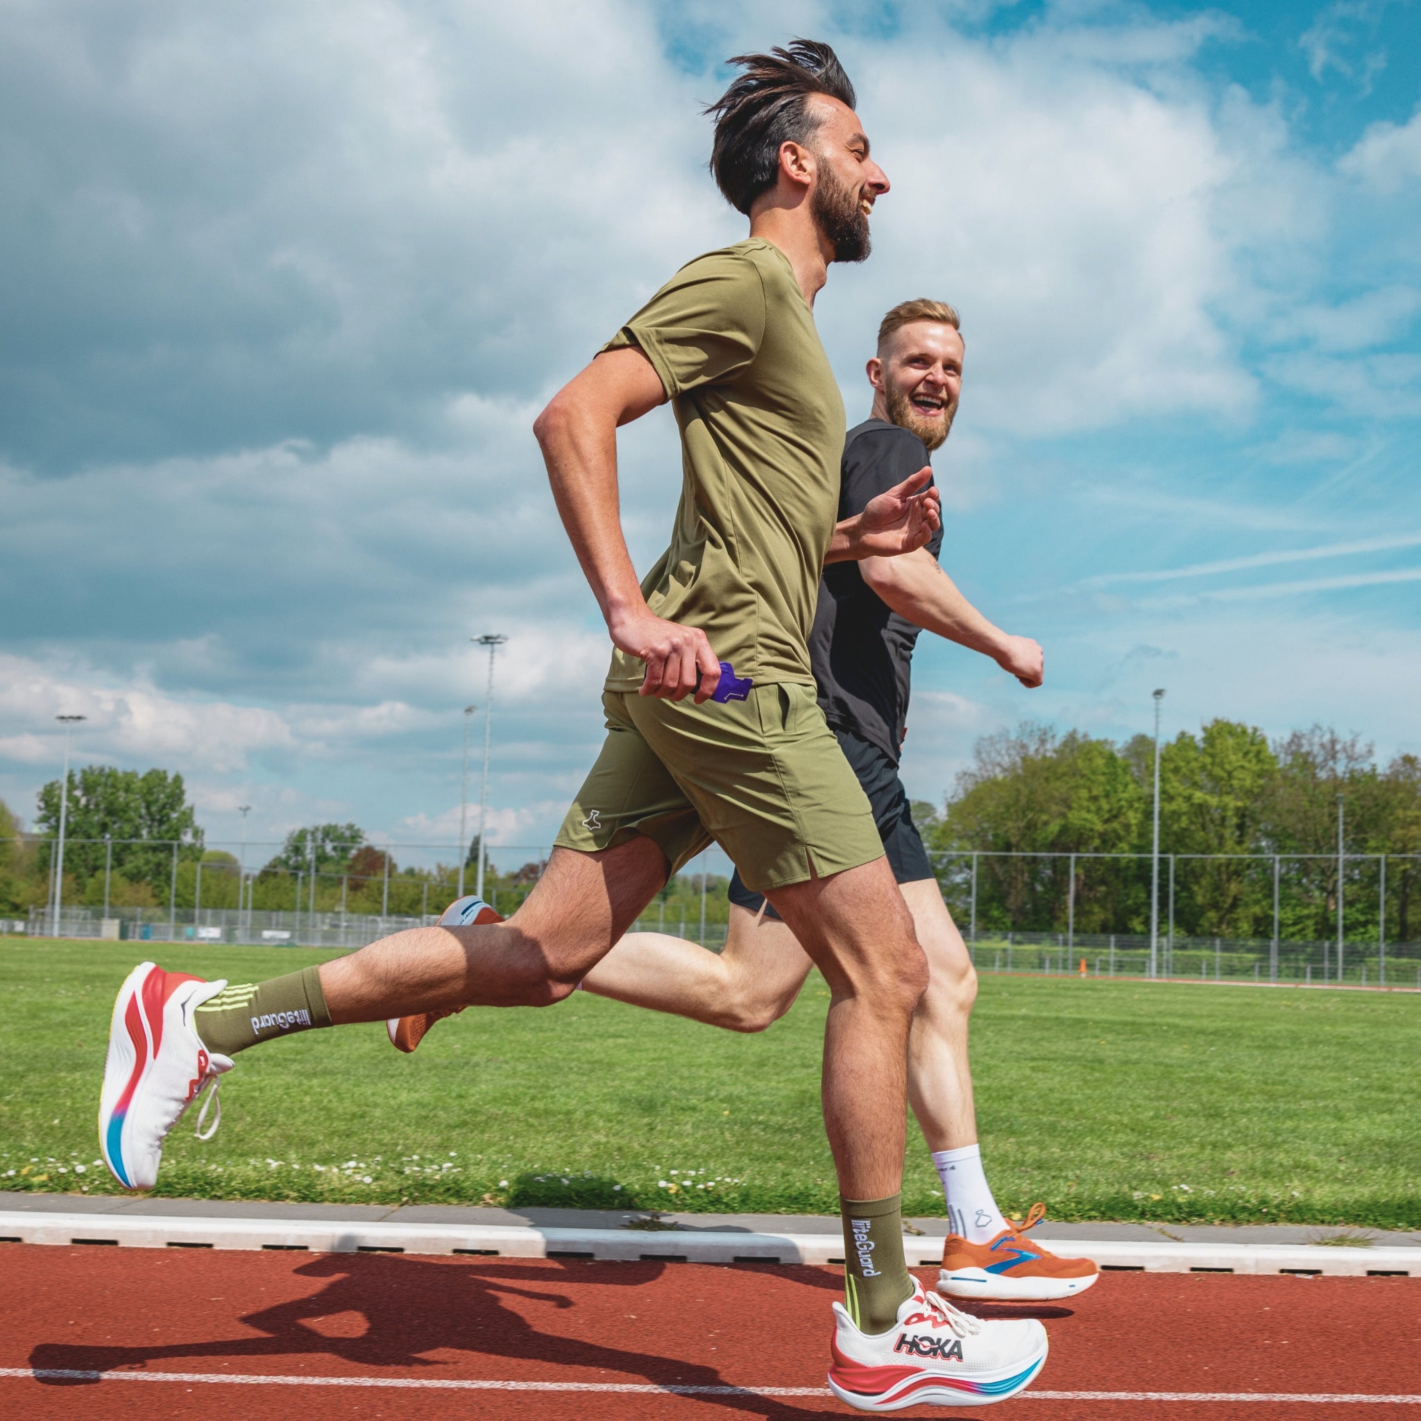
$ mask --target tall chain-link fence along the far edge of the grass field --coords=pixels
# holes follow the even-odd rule
[[[71,841],[97,843],[111,865],[111,841]],[[257,843],[234,845],[232,861],[183,860],[183,851],[198,847],[192,844],[145,847],[171,851],[166,902],[121,902],[107,867],[84,881],[80,902],[61,902],[55,911],[51,875],[50,901],[31,907],[24,919],[0,919],[0,931],[350,951],[435,922],[459,888],[458,850],[448,844],[362,845],[362,872],[293,871],[270,863],[249,868],[249,855],[280,847]],[[490,844],[485,898],[512,912],[549,854],[541,844]],[[1141,931],[1155,874],[1150,854],[962,850],[932,860],[979,972],[1421,988],[1421,941],[1407,931],[1421,909],[1421,899],[1412,904],[1421,855],[1161,854],[1154,938]],[[730,872],[729,858],[712,845],[654,899],[637,931],[671,932],[719,949]],[[468,865],[463,887],[473,888]],[[132,885],[124,888],[132,894]],[[151,887],[146,894],[155,897]],[[1262,921],[1266,931],[1201,932],[1199,918],[1211,914]],[[1326,935],[1299,931],[1319,924]],[[1128,931],[1108,931],[1113,925]]]

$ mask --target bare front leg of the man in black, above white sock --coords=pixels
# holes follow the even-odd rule
[[[976,1144],[968,1017],[976,1000],[976,969],[935,878],[901,884],[918,942],[928,958],[908,1037],[908,1100],[929,1150]]]

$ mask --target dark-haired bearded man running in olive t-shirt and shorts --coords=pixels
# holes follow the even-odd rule
[[[151,1188],[163,1137],[240,1050],[314,1027],[561,1000],[668,875],[718,841],[833,996],[823,1098],[847,1306],[834,1304],[830,1385],[861,1410],[1005,1400],[1046,1360],[1040,1322],[978,1322],[904,1262],[907,1047],[928,966],[868,799],[816,705],[809,655],[826,563],[911,553],[941,522],[928,469],[837,520],[844,406],[813,300],[830,263],[868,256],[888,179],[828,45],[732,63],[740,74],[710,109],[710,166],[749,236],[682,267],[534,425],[615,647],[607,740],[547,871],[506,924],[416,928],[254,986],[142,963],[114,1007],[99,1138],[121,1184]],[[638,584],[617,429],[666,401],[682,497],[671,546]],[[722,659],[752,682],[745,699],[712,701]],[[782,1346],[773,1320],[757,1326]]]

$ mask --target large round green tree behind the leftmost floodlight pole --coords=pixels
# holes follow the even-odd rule
[[[36,826],[53,843],[60,831],[60,782],[50,780],[38,794]],[[129,882],[166,890],[172,874],[173,841],[180,863],[202,857],[202,830],[188,803],[183,779],[168,770],[119,770],[111,764],[85,764],[70,770],[65,818],[64,871],[77,880],[104,872],[105,836],[112,838],[114,872]],[[41,867],[50,865],[51,844],[44,844]]]

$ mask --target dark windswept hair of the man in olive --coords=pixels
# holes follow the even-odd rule
[[[817,40],[726,63],[743,72],[706,108],[715,114],[710,172],[726,202],[749,216],[755,199],[774,186],[780,144],[807,144],[818,128],[809,97],[827,94],[853,108],[854,85],[838,55]]]

